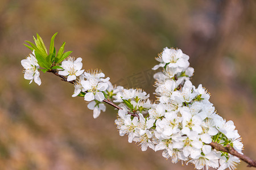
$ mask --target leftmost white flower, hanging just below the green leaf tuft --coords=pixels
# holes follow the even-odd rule
[[[22,59],[21,64],[25,69],[24,79],[30,80],[30,83],[32,83],[34,80],[35,83],[40,86],[41,79],[39,78],[39,65],[35,57],[35,52],[33,51],[32,54],[30,54],[30,56],[28,56],[26,59]]]

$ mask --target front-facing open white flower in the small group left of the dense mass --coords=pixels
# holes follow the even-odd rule
[[[88,91],[84,96],[84,100],[92,101],[96,99],[98,101],[102,101],[105,99],[102,91],[105,91],[108,88],[108,83],[98,82],[98,80],[90,78],[88,80],[82,80],[81,85],[85,91]]]

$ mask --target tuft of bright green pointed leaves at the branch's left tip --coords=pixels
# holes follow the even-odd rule
[[[47,52],[46,45],[44,45],[43,39],[36,33],[36,38],[33,36],[35,44],[30,41],[25,41],[27,44],[25,45],[28,49],[35,52],[35,57],[38,60],[38,64],[42,67],[42,71],[45,73],[48,70],[52,69],[62,69],[58,64],[63,61],[65,58],[72,53],[72,51],[68,51],[64,53],[65,42],[61,45],[59,52],[56,53],[56,49],[54,47],[54,39],[57,35],[57,32],[51,38],[51,44],[49,46],[49,52]]]

